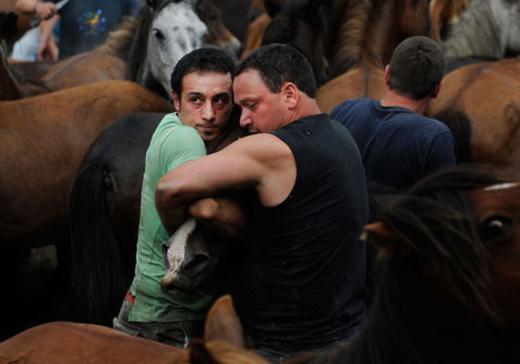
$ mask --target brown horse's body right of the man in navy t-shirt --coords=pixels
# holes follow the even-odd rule
[[[471,139],[457,140],[457,143],[459,149],[469,145],[472,161],[518,169],[519,74],[518,58],[459,68],[444,77],[441,92],[427,113],[439,115],[438,118],[450,128],[454,123],[469,123]],[[458,117],[459,121],[454,120],[454,117]]]

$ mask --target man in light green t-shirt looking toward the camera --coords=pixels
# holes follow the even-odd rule
[[[159,179],[181,164],[206,155],[206,147],[229,126],[233,109],[235,64],[223,50],[203,48],[184,56],[172,76],[176,113],[157,126],[146,152],[135,277],[114,328],[167,344],[186,347],[202,336],[214,298],[207,292],[165,292],[162,244],[168,233],[155,206]]]

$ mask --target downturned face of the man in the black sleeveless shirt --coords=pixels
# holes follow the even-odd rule
[[[241,127],[258,133],[282,126],[287,112],[282,95],[272,93],[257,70],[249,69],[235,77],[233,93],[235,103],[242,108]]]

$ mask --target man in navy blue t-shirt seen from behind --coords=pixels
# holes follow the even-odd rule
[[[408,38],[385,67],[388,90],[381,100],[348,100],[331,112],[354,137],[369,183],[405,191],[426,175],[455,164],[450,130],[423,116],[439,93],[444,66],[443,51],[435,41]]]

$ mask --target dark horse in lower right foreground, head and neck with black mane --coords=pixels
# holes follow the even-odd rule
[[[291,363],[516,363],[520,184],[484,166],[437,173],[365,228],[379,280],[348,345]]]

